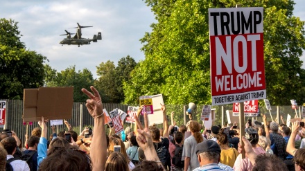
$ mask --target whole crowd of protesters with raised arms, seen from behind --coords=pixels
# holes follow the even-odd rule
[[[94,118],[94,129],[86,127],[80,135],[67,125],[67,132],[47,137],[46,120],[26,135],[21,143],[10,129],[0,133],[0,171],[2,170],[305,170],[305,127],[299,121],[292,127],[269,122],[245,125],[245,136],[239,135],[237,124],[203,129],[199,120],[171,125],[163,111],[163,129],[149,126],[144,112],[144,125],[139,121],[142,108],[134,116],[134,129],[106,134],[101,96],[94,87],[87,94],[86,107]],[[282,119],[282,118],[281,118]],[[284,120],[283,120],[284,121]],[[67,139],[69,135],[69,139]],[[87,137],[89,135],[89,137]],[[243,146],[240,141],[243,141]],[[243,159],[241,153],[245,153]]]

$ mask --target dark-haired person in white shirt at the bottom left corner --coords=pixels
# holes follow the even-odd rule
[[[26,161],[22,161],[19,159],[14,159],[14,155],[16,152],[17,141],[12,136],[6,137],[0,141],[1,147],[3,147],[8,155],[6,156],[6,162],[10,163],[13,170],[20,170],[20,171],[30,171],[28,167],[28,163]]]

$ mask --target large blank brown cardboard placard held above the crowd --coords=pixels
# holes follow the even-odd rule
[[[72,108],[73,87],[24,89],[24,122],[70,119]]]

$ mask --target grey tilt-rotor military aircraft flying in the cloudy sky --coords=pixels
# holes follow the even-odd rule
[[[77,23],[78,24],[78,23]],[[80,45],[83,44],[90,44],[90,42],[98,42],[98,40],[102,39],[102,33],[98,32],[98,35],[94,35],[92,39],[87,39],[87,38],[82,38],[82,28],[87,28],[87,27],[92,27],[92,26],[80,26],[80,24],[78,24],[76,29],[76,33],[69,33],[67,30],[64,30],[67,34],[67,38],[64,38],[62,41],[60,41],[60,44],[62,44],[62,46],[64,44],[68,44],[68,45],[78,45],[78,47]],[[74,37],[71,37],[71,35],[75,35]]]

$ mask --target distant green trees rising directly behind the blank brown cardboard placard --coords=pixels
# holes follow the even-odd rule
[[[89,89],[94,84],[94,78],[88,69],[76,71],[76,66],[70,66],[64,71],[56,72],[51,66],[45,65],[45,86],[46,87],[73,87],[74,102],[84,102],[87,95],[82,93],[81,89]]]

